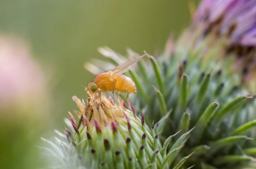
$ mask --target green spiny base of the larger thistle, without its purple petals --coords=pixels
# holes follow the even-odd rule
[[[242,74],[233,70],[233,57],[218,56],[221,43],[211,44],[209,48],[209,42],[204,40],[189,46],[184,40],[186,36],[184,33],[178,39],[172,52],[168,53],[167,44],[164,54],[156,58],[149,56],[151,66],[150,62],[142,61],[137,71],[126,73],[132,75],[141,89],[130,100],[135,107],[147,107],[147,123],[171,111],[163,127],[166,137],[179,130],[181,135],[195,127],[176,157],[182,161],[195,151],[187,167],[195,164],[194,168],[198,169],[240,169],[250,165],[255,161],[255,154],[247,154],[246,150],[253,152],[256,145],[252,139],[256,134],[253,120],[256,101],[241,83]],[[115,60],[112,56],[120,56],[108,48],[104,50],[109,51],[111,62]],[[129,49],[128,57],[134,56],[140,54]]]

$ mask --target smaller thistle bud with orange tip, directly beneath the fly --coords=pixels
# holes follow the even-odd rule
[[[173,142],[174,135],[161,144],[160,130],[168,114],[156,124],[148,127],[144,115],[139,118],[129,102],[129,108],[120,97],[118,103],[102,93],[87,91],[87,104],[76,96],[80,111],[79,123],[71,113],[66,120],[70,130],[58,132],[57,143],[46,141],[45,147],[51,168],[55,169],[163,169],[169,166],[180,168],[193,154],[189,152],[180,161],[175,160],[183,148],[188,131]],[[172,146],[168,148],[169,143]]]

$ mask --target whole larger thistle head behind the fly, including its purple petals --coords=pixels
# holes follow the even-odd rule
[[[179,130],[181,134],[195,127],[177,156],[180,159],[195,151],[188,166],[256,168],[256,101],[250,93],[255,88],[248,88],[250,80],[256,79],[252,76],[256,43],[250,41],[248,45],[244,39],[255,30],[255,24],[245,25],[241,19],[252,17],[254,23],[255,13],[256,1],[204,0],[192,25],[177,40],[170,37],[163,54],[149,57],[151,66],[140,61],[137,71],[127,73],[138,89],[130,100],[134,107],[147,107],[146,122],[172,111],[163,135]],[[99,51],[113,66],[125,61],[110,48]],[[128,49],[128,57],[135,56],[140,55]]]

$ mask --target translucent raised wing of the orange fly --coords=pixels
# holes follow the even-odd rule
[[[129,70],[128,69],[129,66],[139,62],[146,55],[148,55],[148,54],[144,54],[142,56],[139,56],[139,57],[136,57],[134,59],[128,60],[127,62],[117,66],[116,68],[111,69],[110,71],[113,72],[113,75],[125,73],[126,71]]]

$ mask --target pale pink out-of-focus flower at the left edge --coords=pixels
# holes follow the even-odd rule
[[[0,107],[40,97],[45,75],[20,39],[0,35]]]

